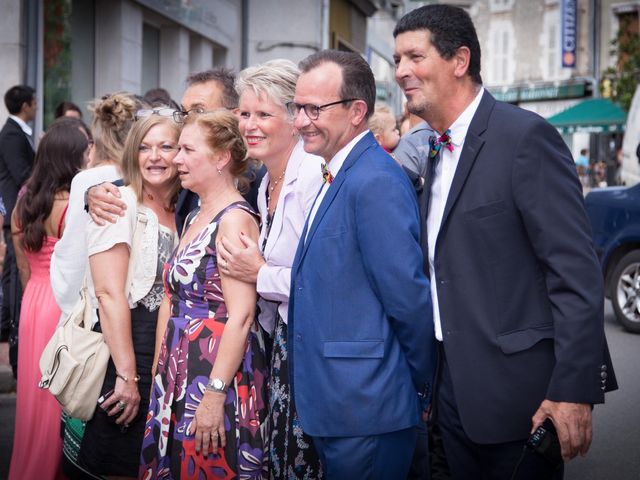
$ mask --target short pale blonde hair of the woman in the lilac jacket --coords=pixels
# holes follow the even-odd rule
[[[242,95],[242,92],[250,88],[257,96],[264,94],[269,100],[285,108],[296,93],[299,75],[300,70],[292,61],[269,60],[242,70],[236,78],[236,91],[238,95]]]

